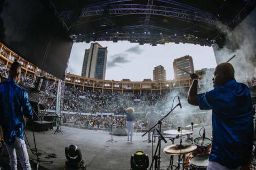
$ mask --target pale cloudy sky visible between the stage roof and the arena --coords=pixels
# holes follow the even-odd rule
[[[166,80],[172,80],[174,79],[173,60],[185,55],[193,57],[195,70],[214,68],[217,65],[212,47],[181,43],[150,46],[129,41],[98,43],[108,47],[106,80],[153,80],[153,70],[158,65],[164,66]],[[70,53],[68,73],[81,75],[84,52],[87,48],[90,48],[90,43],[74,43]]]

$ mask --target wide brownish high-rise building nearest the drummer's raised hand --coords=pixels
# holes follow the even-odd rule
[[[174,78],[175,79],[185,79],[185,78],[190,78],[190,75],[180,69],[178,69],[177,67],[175,67],[175,65],[177,65],[178,67],[180,67],[183,70],[188,71],[189,73],[194,73],[194,63],[193,63],[193,58],[189,55],[180,57],[180,58],[176,58],[173,61],[173,70],[174,70]]]

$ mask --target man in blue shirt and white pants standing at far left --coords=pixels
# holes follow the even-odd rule
[[[22,169],[30,170],[28,152],[23,136],[23,115],[33,119],[28,95],[18,86],[21,66],[15,61],[10,68],[7,82],[0,83],[0,125],[12,170],[17,170],[17,155]],[[17,154],[17,155],[16,155]]]

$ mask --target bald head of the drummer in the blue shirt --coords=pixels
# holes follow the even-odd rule
[[[235,78],[235,70],[230,63],[220,63],[214,71],[213,86],[223,86],[226,82]]]

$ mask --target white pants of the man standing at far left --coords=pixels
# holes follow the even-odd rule
[[[25,141],[20,138],[15,138],[11,145],[4,144],[10,159],[10,165],[12,170],[17,170],[17,155],[19,157],[23,170],[31,170],[28,158],[28,151]],[[17,155],[16,155],[17,154]]]

